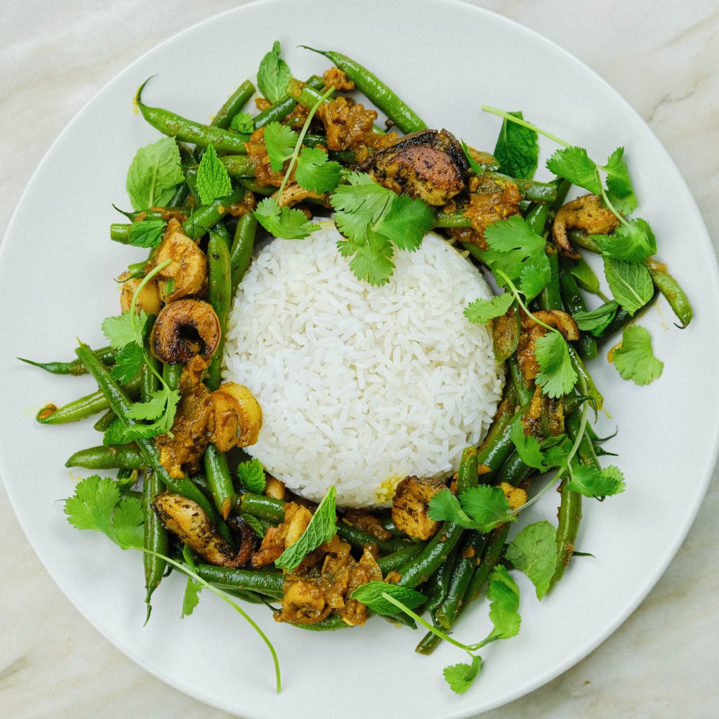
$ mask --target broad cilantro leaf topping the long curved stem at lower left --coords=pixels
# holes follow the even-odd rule
[[[102,532],[122,549],[142,546],[142,505],[134,497],[121,498],[108,477],[92,475],[79,482],[65,500],[65,514],[73,527]]]

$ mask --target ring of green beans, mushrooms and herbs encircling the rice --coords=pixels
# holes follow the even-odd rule
[[[142,551],[147,619],[168,569],[186,574],[183,615],[201,591],[220,595],[269,647],[278,690],[272,644],[230,595],[313,631],[359,626],[372,614],[419,623],[429,633],[417,651],[446,641],[467,653],[468,663],[444,669],[452,690],[464,692],[480,672],[477,651],[519,631],[511,572],[527,574],[541,600],[581,541],[582,503],[587,511],[586,498],[624,489],[620,469],[597,459],[608,452],[588,420],[603,397],[585,361],[622,331],[610,354],[618,375],[656,380],[663,364],[634,321],[659,293],[681,328],[692,308],[654,258],[649,223],[631,217],[638,198],[622,147],[601,165],[521,112],[485,107],[503,122],[493,154],[480,152],[429,129],[357,61],[315,52],[334,67],[300,82],[275,42],[257,73],[255,116],[249,80],[210,124],[147,106],[142,83],[139,111],[165,137],[132,160],[129,222],[112,224],[110,237],[150,256],[119,275],[122,313],[102,323],[108,347],[81,342],[69,362],[22,361],[58,375],[89,372],[98,384],[63,407],[47,404],[37,421],[106,411],[95,424],[103,443],[74,452],[66,466],[118,475],[82,480],[65,512],[73,526]],[[346,94],[353,90],[366,104]],[[546,163],[548,182],[534,179],[539,135],[560,146]],[[582,194],[566,201],[572,186]],[[506,362],[489,433],[464,450],[449,485],[399,482],[390,513],[338,507],[334,487],[315,505],[244,457],[262,408],[221,373],[232,297],[260,227],[301,240],[317,229],[312,217],[330,211],[344,236],[338,251],[369,285],[386,283],[395,252],[416,249],[435,229],[503,290],[464,308],[468,323],[490,327],[495,357]],[[601,257],[608,294],[585,252]],[[554,488],[557,526],[548,518],[510,540],[523,510]],[[449,632],[482,592],[493,629],[463,644]]]

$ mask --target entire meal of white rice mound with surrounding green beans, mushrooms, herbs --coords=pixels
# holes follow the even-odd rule
[[[623,147],[601,165],[484,106],[502,123],[476,150],[355,60],[315,52],[331,68],[298,81],[275,42],[257,88],[209,125],[140,86],[165,137],[137,150],[110,234],[149,257],[119,273],[107,347],[24,360],[98,384],[37,421],[99,415],[102,443],[66,466],[116,476],[78,482],[65,513],[142,552],[148,620],[163,577],[185,574],[182,615],[222,597],[267,644],[279,691],[242,602],[313,631],[380,615],[426,629],[422,654],[464,651],[444,669],[462,693],[480,649],[519,632],[516,572],[541,600],[586,554],[582,503],[624,490],[598,459],[587,361],[613,345],[618,382],[656,380],[636,320],[659,295],[679,327],[692,308],[633,216]],[[546,180],[540,136],[557,145]],[[555,489],[556,517],[517,522]],[[476,631],[458,620],[480,597],[488,631],[464,644],[452,632]]]

